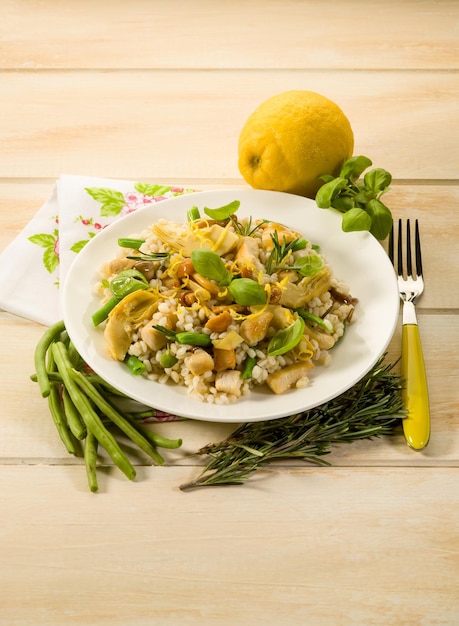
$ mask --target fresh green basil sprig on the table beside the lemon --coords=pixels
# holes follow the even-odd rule
[[[319,208],[334,208],[343,213],[345,232],[368,230],[382,241],[392,228],[392,214],[380,198],[389,190],[392,176],[382,168],[374,168],[360,180],[371,165],[368,157],[354,156],[345,161],[337,177],[320,176],[325,184],[316,194],[316,204]]]

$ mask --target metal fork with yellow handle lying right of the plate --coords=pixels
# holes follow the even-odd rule
[[[403,432],[406,442],[411,448],[422,450],[430,438],[430,407],[424,357],[415,310],[415,301],[424,291],[418,220],[415,221],[414,233],[415,272],[413,272],[409,219],[406,220],[405,230],[406,270],[403,260],[402,220],[398,221],[397,259],[394,256],[394,226],[392,226],[392,232],[389,236],[388,254],[397,272],[398,290],[403,303],[401,375],[405,382],[402,390],[402,401],[407,411],[407,416],[403,420]]]

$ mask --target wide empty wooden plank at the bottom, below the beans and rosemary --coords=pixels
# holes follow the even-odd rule
[[[146,474],[94,495],[77,468],[2,468],[4,624],[457,621],[457,468],[284,469],[186,494],[188,468]]]

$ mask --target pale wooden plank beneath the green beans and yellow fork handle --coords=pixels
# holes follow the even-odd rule
[[[439,322],[440,320],[440,322]],[[338,465],[419,465],[448,466],[459,460],[459,375],[457,345],[459,319],[455,314],[421,314],[419,324],[430,386],[432,438],[422,453],[413,453],[403,437],[363,441],[350,446],[338,446],[330,461]],[[37,324],[0,314],[0,336],[4,358],[0,363],[2,382],[2,437],[0,459],[6,463],[37,462],[81,464],[81,459],[67,454],[42,399],[38,387],[29,381],[33,372],[33,350],[43,332]],[[400,329],[390,344],[388,362],[400,355]],[[24,409],[24,407],[27,407]],[[220,441],[235,425],[207,422],[177,422],[156,424],[158,432],[182,437],[181,450],[165,452],[172,464],[199,465],[205,459],[193,456],[201,446]],[[26,461],[26,459],[28,459]],[[147,459],[134,456],[135,463]],[[290,463],[288,464],[290,465]],[[84,469],[81,468],[82,475]]]

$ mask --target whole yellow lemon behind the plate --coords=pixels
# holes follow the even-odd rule
[[[293,90],[263,102],[239,135],[239,171],[255,189],[314,198],[322,174],[337,176],[354,149],[347,117],[332,100]]]

